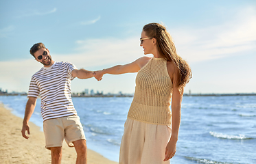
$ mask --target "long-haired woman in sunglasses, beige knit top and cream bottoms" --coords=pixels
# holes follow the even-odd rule
[[[163,25],[145,25],[140,40],[144,54],[154,57],[145,56],[130,64],[96,71],[95,78],[100,81],[104,74],[138,72],[135,95],[124,125],[119,163],[170,163],[178,141],[183,89],[191,78],[191,70],[177,55]]]

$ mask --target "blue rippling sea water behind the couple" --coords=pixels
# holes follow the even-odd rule
[[[23,118],[26,96],[0,96]],[[118,161],[130,97],[75,97],[89,149]],[[30,121],[41,127],[40,99]],[[21,125],[22,126],[22,125]],[[184,96],[175,163],[256,163],[256,96]]]

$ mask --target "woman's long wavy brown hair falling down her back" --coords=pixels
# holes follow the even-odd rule
[[[179,76],[177,81],[178,90],[183,94],[183,89],[192,77],[189,64],[176,52],[176,47],[172,41],[170,33],[159,23],[149,23],[143,27],[143,31],[150,38],[156,38],[156,46],[161,55],[167,60],[172,61],[178,68]]]

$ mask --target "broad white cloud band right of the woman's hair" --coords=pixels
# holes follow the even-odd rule
[[[255,51],[256,10],[246,8],[222,25],[172,29],[178,53],[188,61],[203,61]]]

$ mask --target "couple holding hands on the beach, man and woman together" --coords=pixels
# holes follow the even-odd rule
[[[69,62],[55,62],[43,43],[34,44],[30,53],[44,67],[30,81],[23,137],[28,139],[25,131],[30,134],[28,121],[40,94],[45,148],[51,150],[51,163],[60,163],[63,139],[75,147],[76,163],[86,163],[86,139],[73,107],[71,80],[95,77],[100,81],[104,74],[138,72],[135,95],[124,124],[119,163],[170,163],[176,152],[183,90],[191,79],[191,69],[176,53],[170,33],[163,25],[145,25],[140,40],[144,54],[154,57],[140,57],[130,64],[95,72],[78,70]]]

